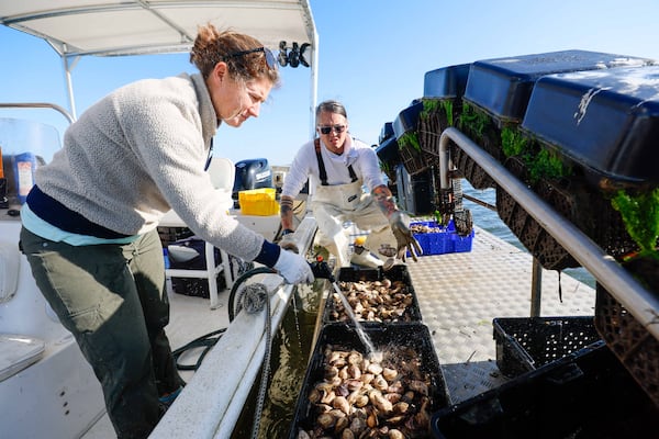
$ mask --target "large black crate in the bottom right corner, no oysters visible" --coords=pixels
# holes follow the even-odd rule
[[[659,410],[603,341],[433,415],[435,439],[656,438]]]

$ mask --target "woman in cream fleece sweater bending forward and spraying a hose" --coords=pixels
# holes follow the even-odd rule
[[[257,40],[199,29],[190,61],[200,74],[127,85],[71,124],[38,168],[23,205],[21,248],[43,295],[101,382],[119,438],[143,438],[183,381],[165,326],[163,250],[156,227],[170,209],[202,239],[313,280],[306,260],[225,213],[210,176],[221,123],[257,117],[279,81]]]

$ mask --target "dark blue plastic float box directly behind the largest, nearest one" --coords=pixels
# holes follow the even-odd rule
[[[561,50],[479,60],[471,65],[465,100],[502,122],[520,123],[524,117],[534,83],[545,75],[643,66],[648,63],[649,60],[644,58],[587,50]]]

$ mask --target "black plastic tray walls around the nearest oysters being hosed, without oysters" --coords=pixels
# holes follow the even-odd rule
[[[439,360],[433,346],[433,340],[428,328],[423,324],[407,324],[386,326],[381,328],[366,328],[365,333],[370,338],[377,350],[392,348],[411,348],[420,361],[418,371],[427,378],[429,396],[428,428],[427,434],[425,428],[423,434],[415,436],[417,438],[431,438],[429,416],[436,410],[448,406],[448,395],[446,392],[446,383],[439,367]],[[315,423],[316,414],[314,406],[309,401],[310,392],[314,386],[322,382],[325,375],[324,352],[332,347],[339,350],[357,350],[362,354],[366,353],[366,348],[361,344],[354,328],[345,325],[325,326],[314,347],[312,358],[306,370],[304,383],[300,391],[300,396],[295,405],[295,415],[291,424],[290,439],[297,439],[300,429],[310,430]],[[413,360],[410,360],[413,361]],[[407,376],[409,379],[409,376]],[[403,378],[403,382],[406,378]],[[418,410],[418,395],[411,402],[411,408]],[[416,408],[414,408],[416,407]],[[417,431],[418,434],[418,431]],[[323,437],[333,437],[332,434]],[[340,437],[336,435],[336,437]],[[356,435],[355,437],[359,437]]]

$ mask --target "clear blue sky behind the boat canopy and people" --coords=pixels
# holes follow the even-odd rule
[[[415,98],[426,71],[479,59],[585,49],[659,59],[656,0],[311,0],[320,35],[319,101],[344,102],[353,135],[368,144]],[[0,102],[67,106],[62,61],[43,41],[0,27]],[[80,114],[113,89],[142,78],[193,72],[187,54],[85,58],[74,69]],[[287,67],[260,117],[222,126],[215,154],[288,165],[310,136],[309,69]],[[46,111],[0,117],[68,123]]]

